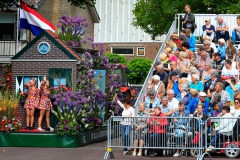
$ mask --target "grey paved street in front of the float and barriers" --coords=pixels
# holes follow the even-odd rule
[[[34,142],[33,142],[34,143]],[[106,141],[87,145],[79,148],[19,148],[0,147],[0,160],[102,160],[105,154]],[[133,157],[121,155],[121,149],[113,149],[116,160],[148,160],[160,159],[160,157]],[[196,160],[193,157],[161,157],[161,160]],[[208,160],[209,158],[205,158]],[[227,160],[225,155],[214,155],[212,159]]]

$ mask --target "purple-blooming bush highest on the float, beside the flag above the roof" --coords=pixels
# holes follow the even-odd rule
[[[86,43],[83,39],[84,34],[87,31],[89,23],[84,17],[70,17],[63,14],[59,19],[58,35],[71,47],[80,47],[82,43]]]

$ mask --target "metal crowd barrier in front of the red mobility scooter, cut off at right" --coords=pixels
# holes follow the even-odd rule
[[[240,117],[210,117],[207,124],[209,127],[204,131],[206,153],[225,153],[229,158],[237,158],[240,154]]]

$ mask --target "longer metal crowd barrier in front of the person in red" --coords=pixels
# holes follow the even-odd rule
[[[114,158],[112,148],[125,148],[126,151],[136,148],[143,149],[142,156],[151,152],[172,156],[180,149],[182,157],[190,152],[200,160],[204,152],[202,136],[205,127],[205,122],[197,117],[114,116],[108,120],[107,151],[104,159],[109,156]]]

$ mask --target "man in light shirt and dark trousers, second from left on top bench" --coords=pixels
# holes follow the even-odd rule
[[[229,39],[228,25],[226,22],[223,22],[222,16],[218,17],[218,23],[216,25],[216,39],[217,41],[220,38],[224,38],[225,41]]]

